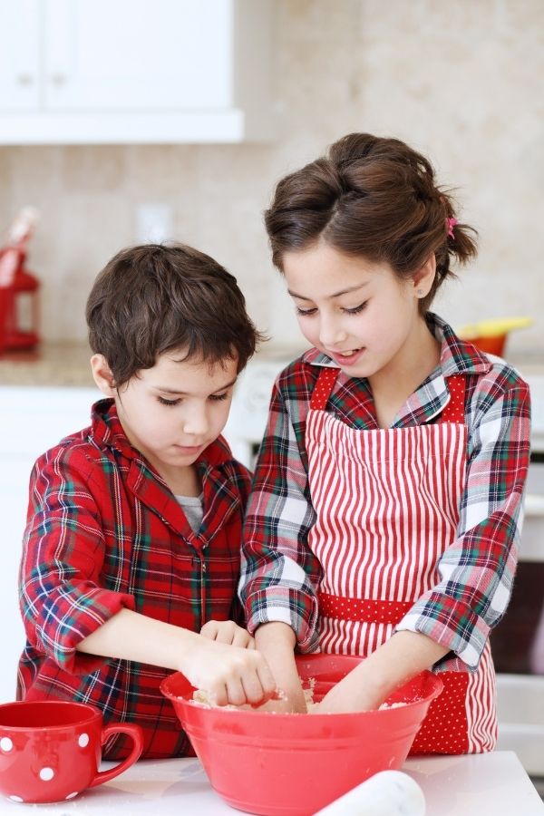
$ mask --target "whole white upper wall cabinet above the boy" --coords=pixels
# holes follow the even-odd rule
[[[0,143],[275,135],[274,0],[0,0]]]

